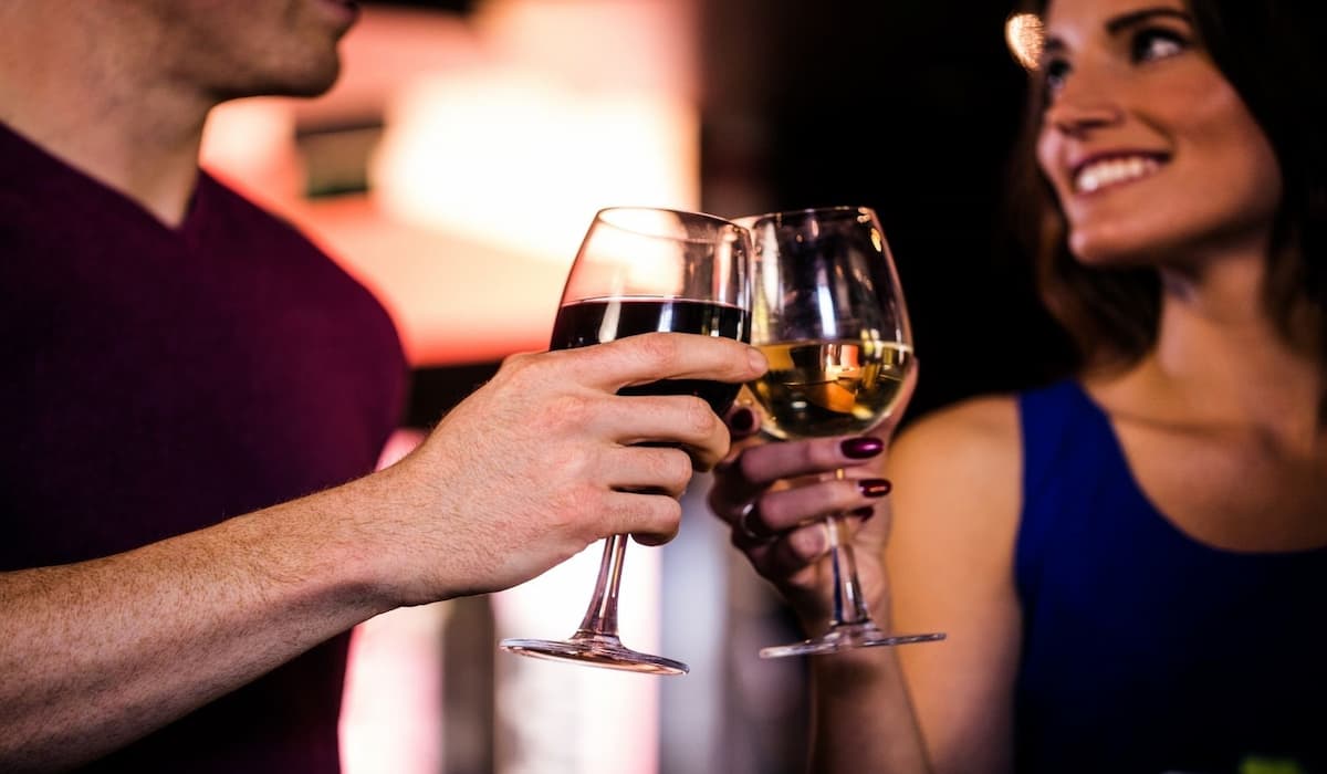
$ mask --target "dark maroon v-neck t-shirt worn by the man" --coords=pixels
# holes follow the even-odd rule
[[[169,228],[4,125],[0,347],[0,570],[106,556],[366,474],[407,381],[386,311],[291,224],[202,174]],[[88,770],[336,771],[346,645]]]

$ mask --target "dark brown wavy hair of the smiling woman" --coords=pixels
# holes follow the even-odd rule
[[[1042,15],[1044,0],[1022,11]],[[1327,362],[1327,3],[1190,0],[1197,36],[1267,134],[1283,190],[1273,231],[1265,303],[1281,333]],[[1154,344],[1161,285],[1152,268],[1085,267],[1036,165],[1043,97],[1028,90],[1015,146],[1010,206],[1031,252],[1038,291],[1078,347],[1079,365],[1125,366]]]

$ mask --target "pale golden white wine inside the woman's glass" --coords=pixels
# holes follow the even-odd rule
[[[762,344],[770,370],[747,386],[776,438],[847,435],[874,427],[902,397],[912,348],[897,341]]]

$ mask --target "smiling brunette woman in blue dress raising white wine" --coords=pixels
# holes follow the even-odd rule
[[[816,771],[1327,767],[1324,12],[1034,11],[1031,232],[1080,366],[918,418],[888,463],[748,446],[710,504],[819,632],[799,524],[871,498],[794,477],[894,485],[855,535],[868,597],[949,639],[811,658]]]

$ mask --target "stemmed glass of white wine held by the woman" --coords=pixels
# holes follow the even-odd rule
[[[865,433],[904,409],[916,378],[912,328],[885,232],[869,207],[736,218],[755,247],[751,344],[770,370],[747,386],[776,441]],[[839,469],[833,474],[843,478]],[[890,635],[867,611],[839,514],[827,519],[833,615],[819,637],[763,648],[763,658],[942,640]]]

